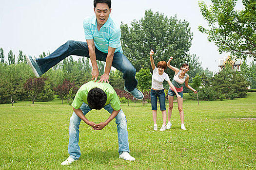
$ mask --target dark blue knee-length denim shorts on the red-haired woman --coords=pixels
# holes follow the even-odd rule
[[[158,110],[158,103],[157,103],[158,99],[159,99],[159,103],[160,103],[160,110],[166,110],[164,89],[162,89],[162,90],[151,89],[150,97],[151,97],[152,110]]]

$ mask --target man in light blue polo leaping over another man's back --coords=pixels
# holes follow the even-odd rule
[[[123,55],[120,27],[109,16],[111,10],[111,0],[94,0],[95,15],[86,17],[83,21],[86,42],[68,40],[45,58],[34,60],[31,56],[26,56],[35,75],[40,77],[69,55],[85,56],[91,59],[92,80],[96,82],[99,74],[96,60],[105,61],[105,71],[98,82],[108,82],[110,69],[113,66],[123,73],[124,90],[138,100],[143,99],[143,94],[135,88],[138,84],[135,79],[136,69]]]

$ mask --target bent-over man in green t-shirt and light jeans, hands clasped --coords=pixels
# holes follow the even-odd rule
[[[118,145],[119,145],[119,158],[125,160],[135,160],[129,152],[128,143],[128,131],[126,124],[126,116],[124,115],[118,95],[114,88],[108,83],[98,83],[90,81],[82,85],[72,103],[73,115],[70,118],[69,125],[69,144],[68,153],[70,156],[61,163],[61,165],[68,165],[78,160],[81,152],[78,145],[79,142],[79,125],[83,120],[89,126],[92,126],[94,130],[103,129],[112,119],[116,118],[118,128]],[[101,123],[95,123],[85,118],[85,115],[92,109],[100,110],[104,107],[111,115],[105,121]]]

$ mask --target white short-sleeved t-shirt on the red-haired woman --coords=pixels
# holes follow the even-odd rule
[[[163,89],[163,81],[164,80],[165,81],[169,81],[170,80],[168,74],[163,72],[162,75],[159,75],[158,68],[155,67],[155,69],[153,70],[153,74],[152,74],[152,85],[151,85],[151,88],[154,88],[156,90],[162,90]]]

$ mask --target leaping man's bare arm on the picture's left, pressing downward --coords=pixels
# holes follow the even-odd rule
[[[92,80],[95,79],[94,82],[97,81],[98,78],[98,65],[96,62],[96,53],[95,53],[95,45],[94,45],[94,40],[93,39],[87,39],[86,40],[87,45],[88,45],[88,50],[89,50],[89,55],[90,55],[90,59],[91,59],[91,63],[93,66],[92,69]]]

